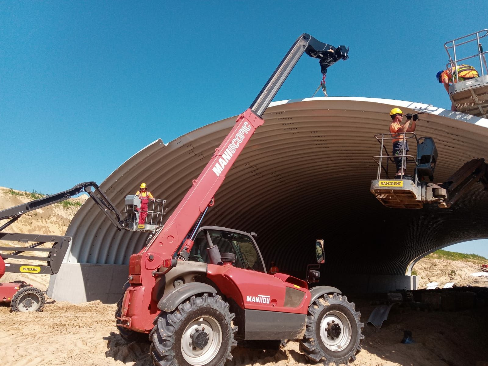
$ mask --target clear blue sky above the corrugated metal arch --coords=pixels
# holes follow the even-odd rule
[[[243,112],[302,33],[350,47],[327,74],[329,96],[449,108],[434,79],[447,62],[443,44],[488,28],[483,11],[449,21],[447,9],[458,6],[2,1],[0,186],[54,193],[101,183],[157,138]],[[275,100],[310,97],[320,79],[318,62],[303,57]]]

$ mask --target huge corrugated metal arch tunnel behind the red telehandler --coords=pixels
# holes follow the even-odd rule
[[[450,209],[388,209],[369,192],[389,110],[425,108],[418,136],[439,151],[435,181],[463,163],[488,158],[488,121],[421,103],[366,98],[311,98],[274,102],[216,194],[204,220],[258,233],[267,264],[290,273],[313,261],[316,238],[325,239],[325,276],[341,272],[405,274],[408,264],[451,243],[488,237],[488,192],[476,184]],[[173,209],[235,122],[231,117],[163,144],[157,140],[117,168],[101,188],[119,207],[141,182]],[[65,261],[127,264],[147,234],[117,232],[87,201],[71,222]],[[303,273],[302,273],[303,274]]]

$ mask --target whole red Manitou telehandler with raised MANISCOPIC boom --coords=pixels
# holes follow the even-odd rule
[[[126,341],[149,338],[154,365],[222,366],[238,340],[300,340],[312,362],[355,360],[364,325],[337,288],[309,289],[307,281],[267,274],[255,234],[201,226],[225,175],[302,54],[319,59],[325,74],[348,58],[348,50],[300,36],[163,228],[130,257],[117,327]],[[310,271],[308,282],[318,275]]]

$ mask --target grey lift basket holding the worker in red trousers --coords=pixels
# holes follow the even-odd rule
[[[142,207],[142,200],[134,194],[125,197],[125,224],[128,230],[152,232],[163,225],[165,200],[148,198],[147,209]],[[141,214],[147,213],[141,219]]]

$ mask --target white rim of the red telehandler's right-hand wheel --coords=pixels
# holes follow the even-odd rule
[[[332,337],[330,331],[327,331],[330,325],[335,325],[336,328],[339,325],[341,332],[337,337]],[[331,351],[342,351],[351,341],[351,335],[351,323],[343,312],[331,310],[322,318],[320,322],[320,338],[324,345]]]

